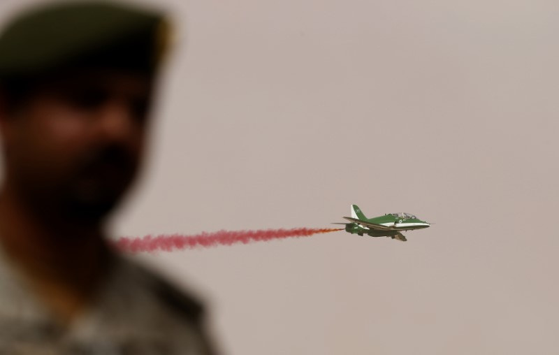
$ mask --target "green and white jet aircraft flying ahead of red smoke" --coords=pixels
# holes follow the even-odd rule
[[[357,205],[351,205],[351,217],[344,217],[350,223],[345,224],[345,231],[351,234],[371,237],[390,237],[392,239],[407,239],[400,231],[413,231],[414,229],[428,228],[430,224],[409,213],[389,213],[384,216],[367,218]]]

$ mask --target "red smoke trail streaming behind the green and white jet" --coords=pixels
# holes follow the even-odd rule
[[[292,237],[310,237],[318,233],[330,233],[342,229],[265,229],[258,231],[217,231],[203,232],[194,236],[181,234],[148,235],[143,238],[122,237],[116,241],[116,247],[124,252],[155,252],[164,250],[171,252],[175,249],[191,249],[194,247],[215,247],[217,245],[231,245],[238,242],[247,244],[259,240],[284,239]]]

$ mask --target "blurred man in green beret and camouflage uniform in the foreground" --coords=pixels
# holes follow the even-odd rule
[[[1,354],[211,354],[196,300],[103,231],[142,161],[164,24],[67,2],[0,35]]]

